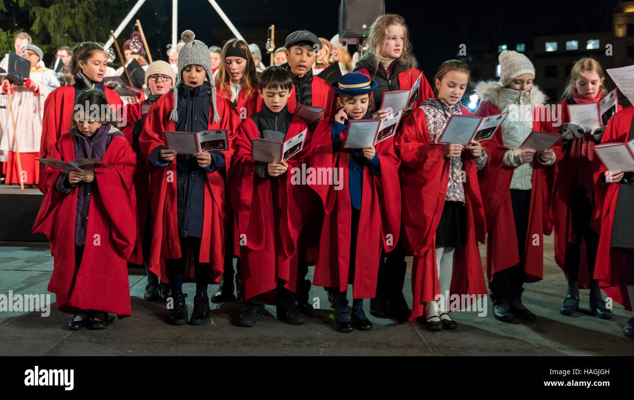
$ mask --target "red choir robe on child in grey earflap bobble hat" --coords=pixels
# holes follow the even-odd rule
[[[231,138],[240,119],[227,99],[216,96],[216,106],[221,120],[212,122],[214,115],[212,104],[209,105],[209,129],[226,129],[229,137],[229,150],[223,151],[226,167],[222,170],[207,172],[205,184],[205,203],[203,216],[203,230],[198,260],[210,263],[212,278],[220,281],[223,273],[224,247],[228,228],[230,204],[227,197],[227,175],[233,156]],[[169,120],[174,109],[174,96],[169,93],[160,97],[152,104],[146,115],[143,131],[139,137],[141,153],[148,159],[150,153],[157,146],[167,146],[163,132],[176,130],[174,121]],[[167,166],[150,168],[150,206],[152,207],[152,245],[150,247],[150,270],[158,275],[162,281],[169,282],[165,258],[181,258],[191,254],[181,254],[178,234],[178,185],[176,182],[176,159]],[[188,268],[185,271],[185,282],[195,282],[193,259],[188,258]]]

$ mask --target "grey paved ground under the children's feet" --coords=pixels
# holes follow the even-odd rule
[[[164,303],[143,301],[145,272],[131,269],[131,318],[115,320],[105,330],[71,332],[65,328],[69,315],[55,304],[46,318],[38,312],[0,312],[0,355],[634,355],[634,341],[621,334],[630,313],[619,304],[609,321],[584,313],[560,315],[566,281],[552,254],[547,238],[544,279],[527,284],[524,292],[524,304],[539,316],[535,322],[498,322],[488,304],[488,316],[453,313],[459,324],[453,332],[429,332],[418,323],[370,316],[373,330],[340,334],[331,327],[330,309],[315,310],[306,324],[291,326],[276,320],[275,309],[268,308],[256,327],[240,328],[235,319],[241,304],[234,302],[212,304],[209,325],[172,327],[164,322]],[[0,243],[0,294],[46,294],[51,270],[48,244]],[[411,304],[409,272],[404,292]],[[193,294],[195,285],[186,284],[185,292]],[[322,308],[328,306],[320,287],[311,290],[313,297]],[[192,301],[188,297],[190,310]],[[588,291],[582,291],[582,308],[587,303]],[[369,316],[368,301],[365,306]]]

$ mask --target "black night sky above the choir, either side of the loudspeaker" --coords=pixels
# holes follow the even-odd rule
[[[260,45],[267,64],[264,42],[271,23],[276,25],[276,47],[283,46],[285,35],[294,30],[307,29],[330,39],[338,29],[339,0],[218,0],[218,3],[245,39]],[[129,4],[132,7],[134,1]],[[420,69],[429,78],[442,61],[456,58],[462,43],[467,45],[469,54],[483,47],[495,51],[504,43],[512,49],[517,42],[527,42],[529,49],[529,42],[536,35],[609,31],[617,4],[617,0],[388,0],[385,12],[405,17]],[[171,9],[153,10],[152,6],[148,1],[141,8],[137,18],[142,23],[143,18],[151,18],[150,13],[154,12],[169,15],[171,21]],[[207,46],[222,46],[233,36],[207,0],[181,0],[178,20],[179,32],[190,28]],[[170,22],[160,33],[146,32],[146,35],[150,47],[165,49],[171,42]]]

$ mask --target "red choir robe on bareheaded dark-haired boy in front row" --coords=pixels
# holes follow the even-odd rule
[[[306,129],[304,120],[294,117],[285,140]],[[306,185],[296,184],[293,175],[306,165],[310,155],[310,134],[302,151],[286,162],[288,170],[280,177],[261,178],[255,172],[251,158],[251,139],[259,138],[256,123],[247,118],[236,135],[235,159],[231,169],[231,204],[238,216],[240,235],[240,267],[245,299],[273,291],[278,278],[292,292],[297,282],[297,241],[307,214]],[[273,182],[275,180],[275,182]],[[301,182],[300,182],[301,183]],[[277,189],[278,204],[273,204],[272,191]],[[280,210],[275,220],[273,208]]]

